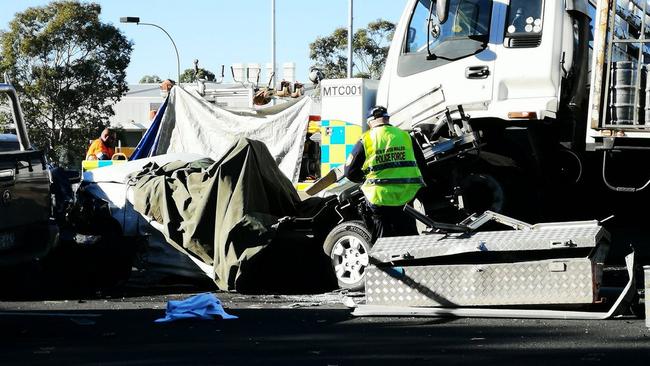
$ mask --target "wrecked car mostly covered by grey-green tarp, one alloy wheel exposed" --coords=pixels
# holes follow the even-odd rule
[[[173,139],[173,131],[165,134]],[[468,131],[431,144],[427,156],[474,149],[474,137]],[[358,185],[301,200],[265,143],[240,138],[219,149],[216,159],[167,152],[85,172],[76,230],[86,237],[119,233],[124,239],[114,241],[134,248],[139,238],[157,253],[146,255],[149,266],[204,273],[222,290],[363,287],[371,237]]]

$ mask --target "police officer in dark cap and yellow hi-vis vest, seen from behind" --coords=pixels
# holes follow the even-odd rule
[[[417,235],[415,220],[404,205],[424,186],[418,166],[426,167],[415,140],[408,132],[389,124],[386,108],[377,106],[368,116],[370,130],[361,135],[345,163],[345,176],[363,182],[372,212],[372,237]]]

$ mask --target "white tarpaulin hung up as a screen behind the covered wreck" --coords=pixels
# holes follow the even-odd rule
[[[196,153],[218,160],[245,137],[266,144],[282,173],[297,182],[311,103],[304,97],[276,114],[242,116],[211,104],[194,90],[174,87],[154,155]]]

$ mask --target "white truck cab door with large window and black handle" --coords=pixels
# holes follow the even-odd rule
[[[486,109],[492,99],[496,59],[490,29],[498,28],[492,19],[501,7],[493,9],[492,0],[451,0],[449,17],[439,24],[435,1],[414,1],[407,27],[396,34],[403,37],[397,65],[388,69],[389,112],[437,85],[443,87],[447,105]]]

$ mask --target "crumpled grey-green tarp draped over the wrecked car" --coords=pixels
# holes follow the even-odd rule
[[[240,139],[218,161],[149,163],[131,179],[134,208],[162,224],[177,249],[211,265],[220,289],[287,288],[305,275],[317,287],[326,277],[319,245],[279,239],[277,230],[278,219],[306,214],[319,199],[301,202],[263,143]]]

